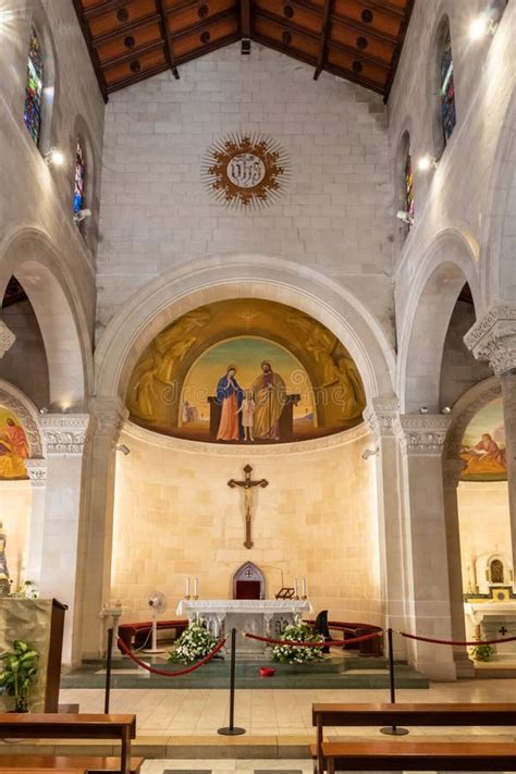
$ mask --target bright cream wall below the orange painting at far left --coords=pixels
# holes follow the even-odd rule
[[[0,523],[7,536],[5,556],[13,589],[22,580],[27,564],[33,492],[30,481],[0,481]]]

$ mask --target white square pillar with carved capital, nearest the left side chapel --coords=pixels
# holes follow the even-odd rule
[[[71,663],[75,635],[77,536],[87,414],[46,414],[41,430],[47,451],[47,492],[41,540],[41,597],[67,605],[63,662]]]

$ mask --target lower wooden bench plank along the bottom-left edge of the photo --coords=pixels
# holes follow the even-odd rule
[[[131,759],[132,774],[139,774],[144,763],[144,758]],[[113,774],[120,772],[120,758],[113,755],[25,755],[25,754],[0,754],[0,774],[5,772],[27,772],[27,774],[39,774],[49,771],[73,772],[74,774]]]

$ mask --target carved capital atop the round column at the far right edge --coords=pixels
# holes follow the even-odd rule
[[[516,306],[496,304],[464,336],[477,360],[489,360],[500,377],[516,369]]]

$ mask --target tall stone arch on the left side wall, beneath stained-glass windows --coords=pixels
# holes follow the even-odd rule
[[[0,297],[14,275],[41,330],[50,381],[49,408],[81,410],[93,383],[93,358],[83,299],[64,257],[45,232],[25,228],[0,243]]]

